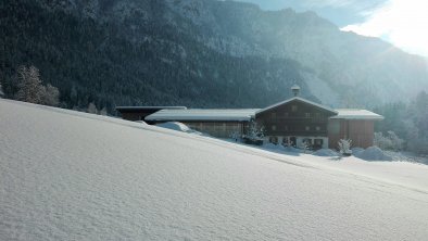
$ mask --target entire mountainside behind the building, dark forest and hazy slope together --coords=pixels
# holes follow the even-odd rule
[[[3,0],[0,81],[35,65],[66,107],[374,106],[428,89],[424,59],[314,13],[216,0]],[[362,98],[364,97],[364,98]]]

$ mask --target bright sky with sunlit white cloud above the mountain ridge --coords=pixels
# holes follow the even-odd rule
[[[264,10],[314,11],[340,27],[428,56],[427,0],[239,0]]]

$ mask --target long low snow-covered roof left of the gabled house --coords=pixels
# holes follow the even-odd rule
[[[188,109],[161,110],[146,117],[146,120],[250,120],[260,109]]]

